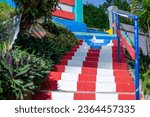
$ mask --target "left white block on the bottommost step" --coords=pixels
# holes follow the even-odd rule
[[[52,100],[73,100],[73,98],[73,93],[52,92]]]

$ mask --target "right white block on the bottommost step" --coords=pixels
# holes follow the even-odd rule
[[[96,100],[118,100],[118,94],[96,93]]]

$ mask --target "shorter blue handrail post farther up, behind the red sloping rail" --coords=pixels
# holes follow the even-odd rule
[[[117,30],[120,30],[120,16],[116,13],[116,23],[117,23]],[[118,39],[118,62],[120,62],[120,38],[117,36]]]

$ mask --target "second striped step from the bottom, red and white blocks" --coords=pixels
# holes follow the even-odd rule
[[[134,83],[102,83],[95,81],[50,81],[42,85],[42,89],[50,91],[82,91],[82,92],[105,92],[105,93],[132,93],[134,92]]]

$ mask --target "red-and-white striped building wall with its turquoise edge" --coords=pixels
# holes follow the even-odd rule
[[[83,19],[82,0],[59,0],[59,7],[55,12],[53,12],[53,16],[77,22],[82,22]]]

